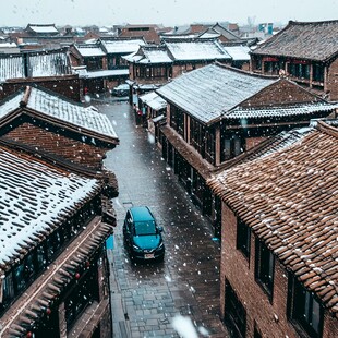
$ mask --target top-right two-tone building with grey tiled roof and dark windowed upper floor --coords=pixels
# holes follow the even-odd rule
[[[338,21],[293,22],[251,52],[251,69],[280,74],[338,99]]]

